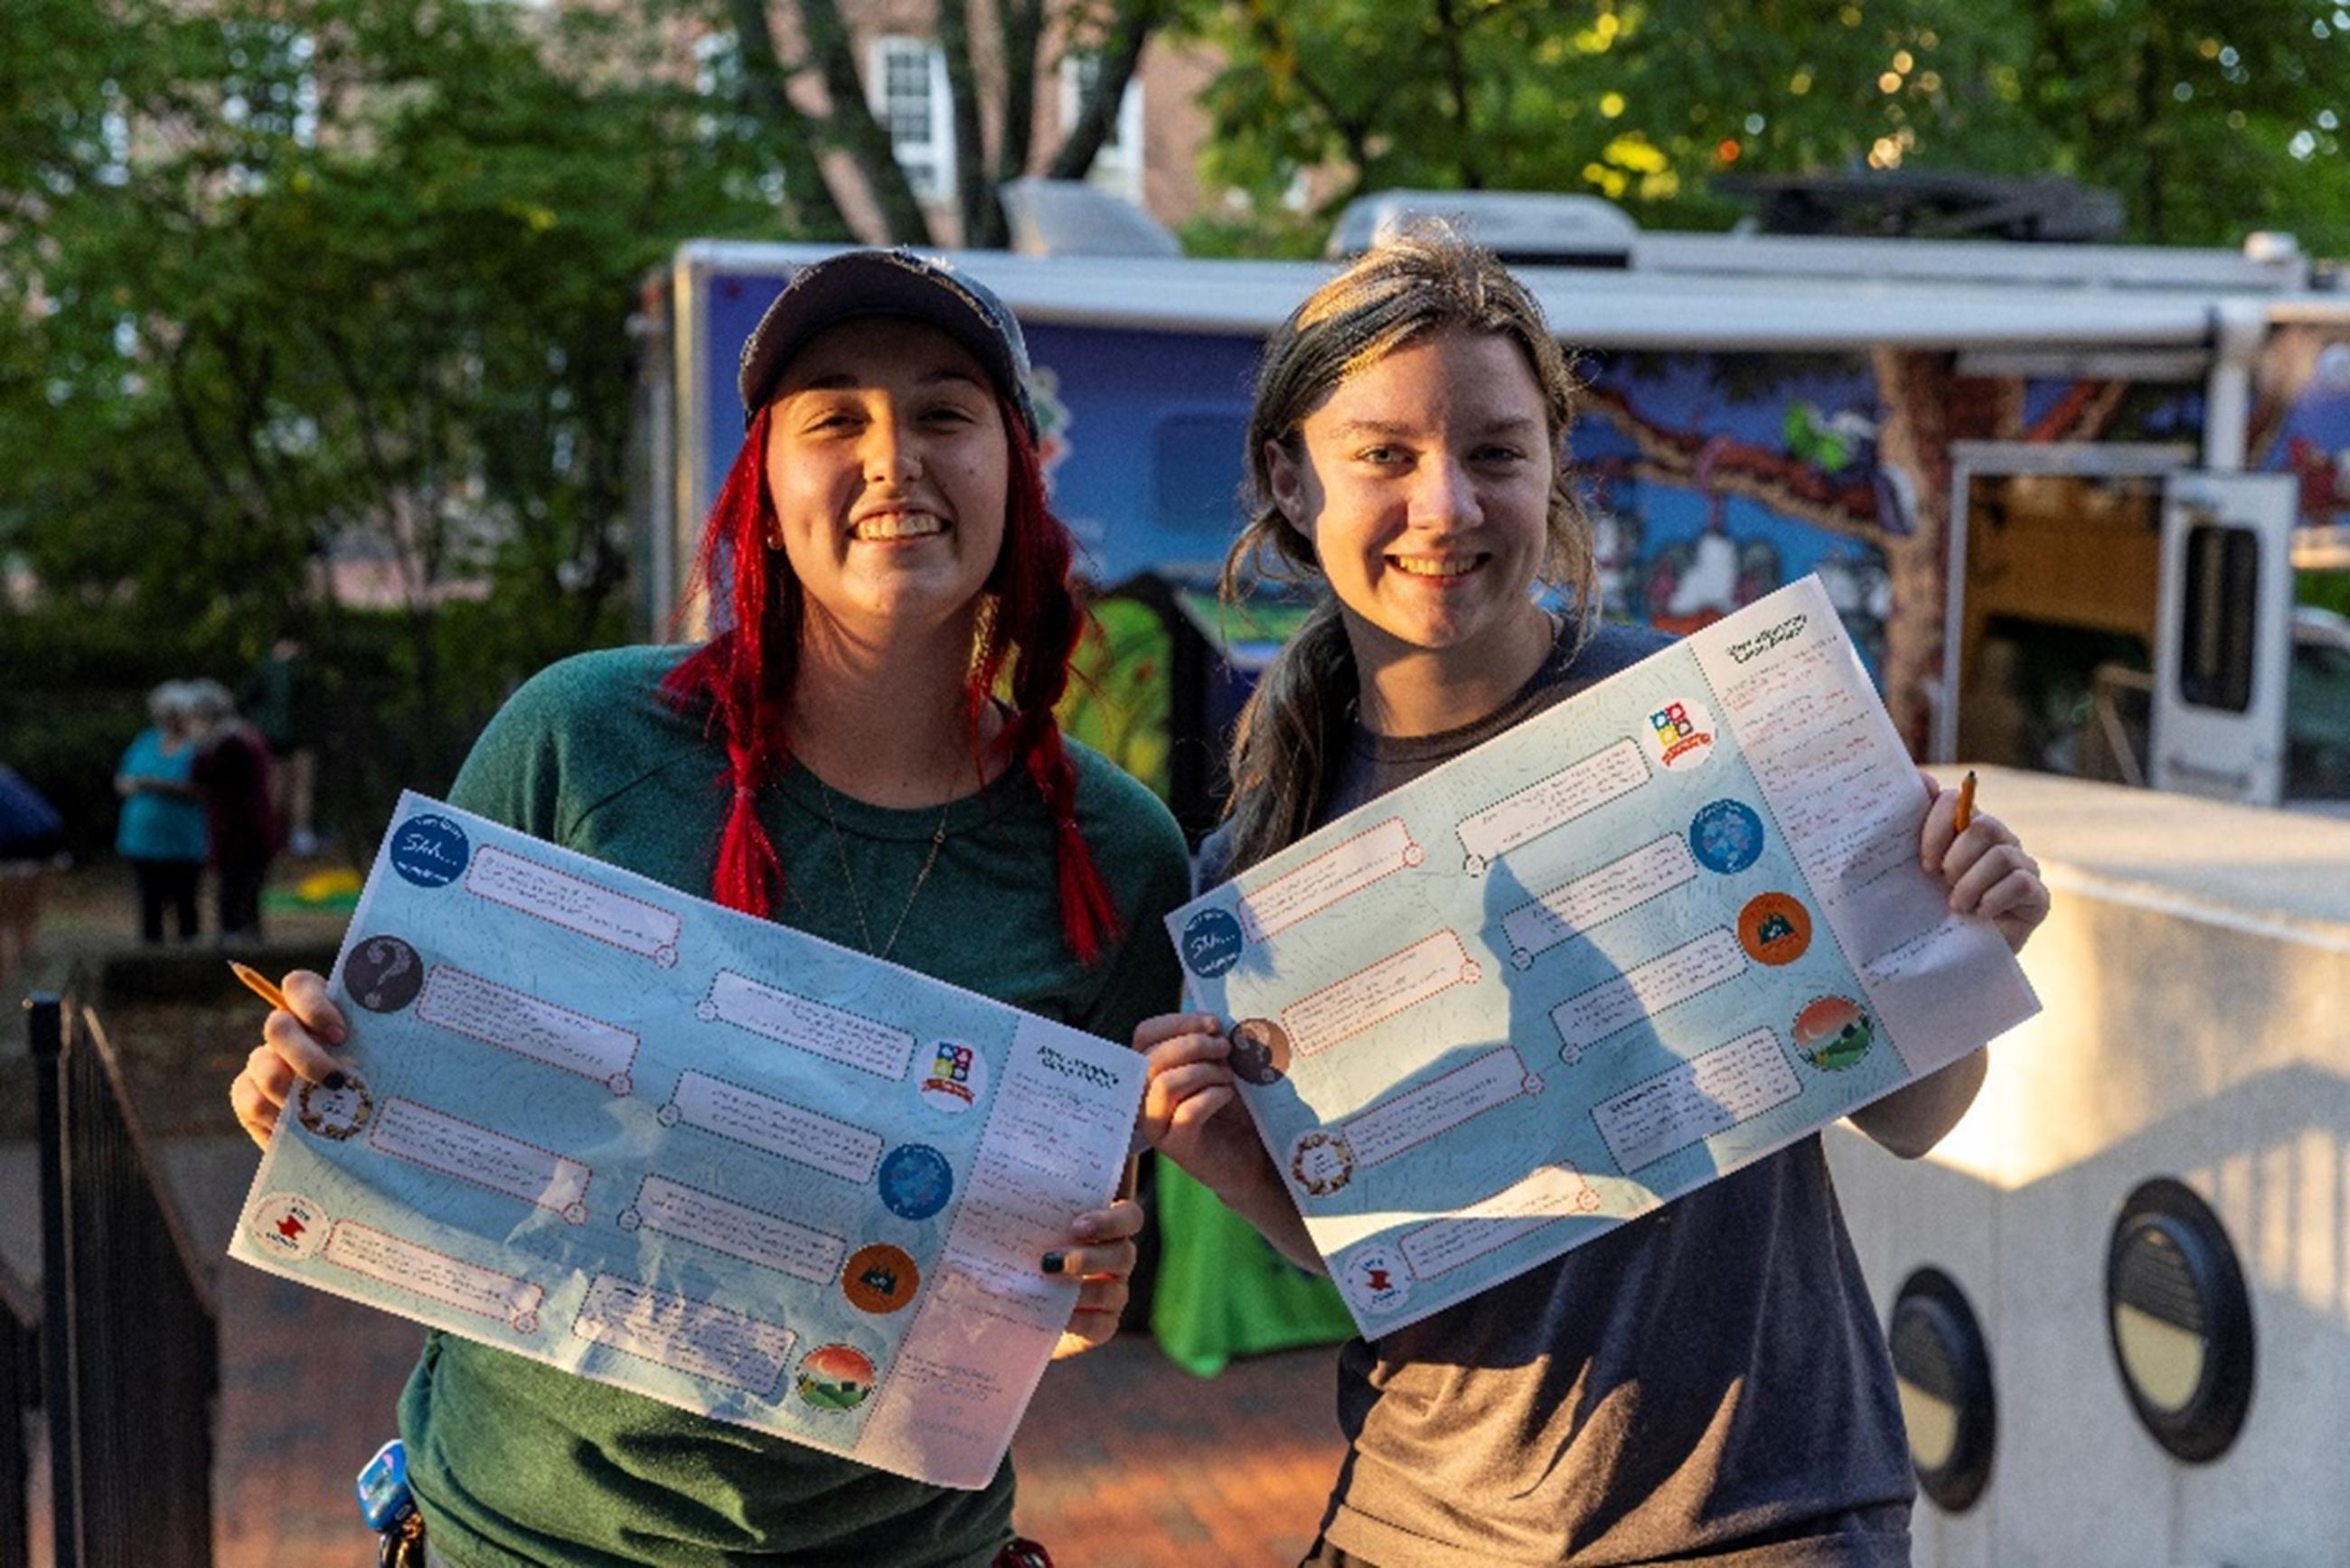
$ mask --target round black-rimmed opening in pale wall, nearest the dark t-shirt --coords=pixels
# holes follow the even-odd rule
[[[1998,1420],[1990,1347],[1967,1295],[1941,1269],[1918,1269],[1894,1295],[1885,1340],[1894,1356],[1901,1422],[1918,1490],[1950,1514],[1974,1507],[1990,1481]]]

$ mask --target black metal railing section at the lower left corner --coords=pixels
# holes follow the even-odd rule
[[[212,1563],[219,1319],[99,1018],[28,1004],[59,1568]]]

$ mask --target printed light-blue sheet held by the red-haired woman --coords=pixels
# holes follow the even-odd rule
[[[1126,1164],[1133,1051],[407,795],[230,1255],[985,1486]]]

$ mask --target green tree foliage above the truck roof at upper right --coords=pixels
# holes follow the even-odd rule
[[[2115,190],[2129,235],[2350,252],[2334,0],[1231,0],[1208,174],[1612,197],[1706,228],[1718,174],[1969,169]]]

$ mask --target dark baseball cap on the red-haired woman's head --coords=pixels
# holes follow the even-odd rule
[[[743,341],[743,367],[736,376],[743,423],[776,395],[783,367],[808,339],[865,315],[895,315],[938,327],[968,348],[996,390],[1020,409],[1029,440],[1036,440],[1036,402],[1029,397],[1027,339],[1020,336],[1020,322],[978,280],[956,273],[940,256],[916,256],[909,249],[841,252],[792,275]]]

